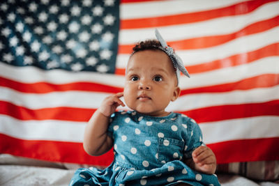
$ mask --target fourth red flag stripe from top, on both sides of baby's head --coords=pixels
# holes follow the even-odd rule
[[[244,57],[243,57],[244,56]],[[268,56],[279,56],[279,43],[273,43],[271,45],[264,46],[260,49],[254,51],[235,54],[233,56],[228,56],[224,59],[218,59],[216,61],[210,61],[207,63],[201,63],[197,65],[186,66],[190,74],[208,72],[211,70],[218,70],[222,68],[228,68],[237,65],[243,65],[246,63],[252,63],[253,61],[263,59]],[[116,75],[125,75],[124,68],[116,68]]]

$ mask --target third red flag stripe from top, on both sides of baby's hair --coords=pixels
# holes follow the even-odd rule
[[[243,29],[234,33],[226,35],[215,35],[215,36],[204,36],[199,38],[190,38],[186,40],[176,40],[167,42],[168,45],[172,46],[176,50],[185,49],[203,49],[207,47],[214,47],[217,45],[225,44],[226,42],[241,38],[243,36],[249,36],[255,33],[260,33],[273,29],[279,25],[279,16],[273,17],[269,20],[256,22],[250,24]],[[130,54],[132,52],[133,45],[119,45],[119,54]]]

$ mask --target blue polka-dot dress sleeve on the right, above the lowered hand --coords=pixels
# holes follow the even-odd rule
[[[197,125],[197,123],[192,118],[189,118],[187,126],[188,137],[183,152],[186,159],[192,157],[192,153],[195,148],[204,145],[202,142],[202,130],[200,129],[199,125]]]

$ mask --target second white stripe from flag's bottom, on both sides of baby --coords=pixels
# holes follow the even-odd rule
[[[10,88],[0,87],[0,100],[11,102],[29,109],[52,107],[78,107],[96,109],[110,94],[66,91],[45,94],[19,93]],[[186,111],[201,107],[223,104],[245,104],[279,100],[279,86],[255,88],[249,91],[231,91],[228,93],[199,93],[183,95],[167,107],[168,111]],[[121,109],[122,107],[119,107]],[[126,108],[126,107],[125,107]]]

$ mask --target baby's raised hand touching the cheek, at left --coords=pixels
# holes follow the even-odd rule
[[[125,107],[125,104],[119,99],[122,96],[123,92],[108,96],[105,100],[103,100],[102,104],[98,108],[98,111],[100,111],[100,113],[104,116],[109,117],[114,113],[115,109],[119,107],[119,105]]]

